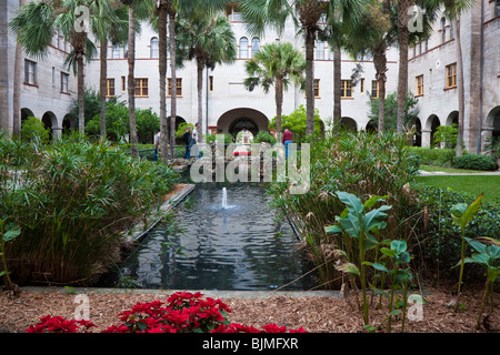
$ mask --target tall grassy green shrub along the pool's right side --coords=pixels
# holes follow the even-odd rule
[[[407,184],[418,170],[404,136],[393,132],[327,135],[311,144],[310,166],[308,193],[290,194],[290,182],[273,182],[269,193],[273,197],[272,205],[301,232],[324,287],[340,286],[341,274],[329,260],[331,251],[352,247],[344,245],[343,239],[324,231],[324,226],[334,224],[336,215],[341,215],[344,210],[336,191],[346,191],[362,200],[388,195],[386,203],[392,209],[387,217],[387,227],[377,237],[411,240],[419,214],[412,206],[413,197]],[[370,280],[371,275],[367,277]]]

